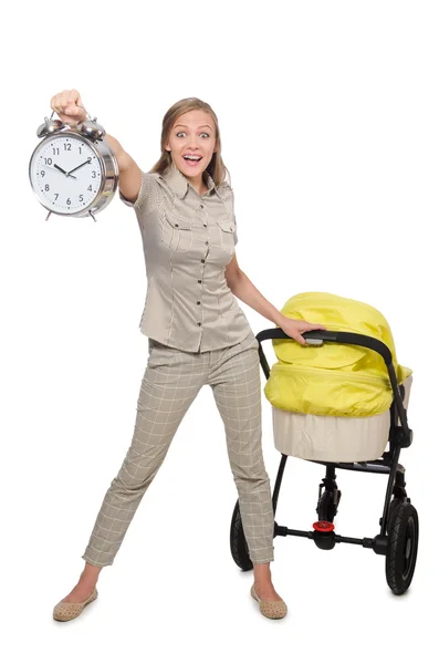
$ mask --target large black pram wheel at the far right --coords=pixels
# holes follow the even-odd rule
[[[389,520],[386,579],[395,594],[406,592],[415,573],[418,553],[418,512],[410,502],[397,501]]]

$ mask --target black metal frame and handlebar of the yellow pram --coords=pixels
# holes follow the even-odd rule
[[[263,352],[261,342],[265,341],[268,339],[291,339],[294,342],[295,342],[295,340],[293,340],[291,336],[289,336],[280,328],[262,330],[255,336],[259,342],[260,363],[262,366],[262,371],[265,375],[265,378],[268,380],[270,376],[270,367],[269,367],[269,363],[266,361],[265,354]],[[386,490],[386,498],[385,498],[384,508],[383,508],[383,516],[379,520],[380,531],[379,531],[379,535],[377,535],[375,538],[358,539],[358,538],[342,537],[339,535],[335,535],[334,532],[320,532],[317,530],[314,530],[314,531],[292,530],[285,526],[279,526],[275,521],[274,521],[274,533],[273,535],[274,535],[274,537],[276,537],[276,535],[280,535],[283,537],[286,537],[288,535],[292,535],[295,537],[305,537],[309,539],[313,539],[315,541],[315,543],[322,549],[333,548],[333,546],[338,542],[359,544],[364,548],[373,549],[375,551],[375,553],[386,556],[387,542],[388,542],[386,532],[387,532],[387,526],[388,526],[388,520],[389,520],[389,508],[390,508],[391,495],[394,494],[397,498],[400,498],[400,499],[404,499],[406,497],[406,491],[404,488],[405,487],[405,480],[404,480],[405,468],[398,463],[399,455],[400,455],[401,448],[409,447],[412,442],[412,432],[408,427],[407,413],[406,413],[406,408],[404,407],[404,403],[403,403],[404,394],[401,395],[401,392],[399,390],[398,382],[396,378],[395,367],[393,365],[391,351],[385,343],[383,343],[381,341],[379,341],[373,336],[367,336],[365,334],[356,334],[353,332],[312,330],[310,332],[304,332],[302,334],[302,336],[305,340],[307,340],[307,339],[320,340],[322,343],[323,342],[333,342],[333,343],[347,343],[347,344],[352,344],[352,345],[365,346],[365,347],[368,347],[368,349],[379,353],[386,364],[390,384],[391,384],[391,388],[394,392],[394,402],[393,402],[391,408],[390,408],[390,412],[391,412],[391,418],[390,418],[391,434],[389,436],[390,449],[387,453],[383,454],[381,459],[374,459],[374,460],[365,461],[365,463],[334,464],[334,463],[327,463],[327,461],[312,460],[312,463],[321,464],[326,467],[326,476],[323,479],[324,486],[327,488],[333,483],[335,483],[335,469],[336,468],[341,468],[344,470],[356,470],[356,471],[362,471],[362,473],[388,474],[389,478],[388,478],[388,483],[387,483],[387,490]],[[297,343],[297,342],[295,342],[295,343]],[[395,413],[395,407],[396,407],[397,413]],[[399,417],[400,426],[398,426],[398,424],[397,424],[398,418],[396,417],[396,415],[398,415],[398,417]],[[281,488],[283,471],[284,471],[286,458],[289,455],[281,454],[281,456],[282,456],[282,458],[281,458],[281,463],[279,466],[275,485],[274,485],[274,490],[273,490],[273,497],[272,497],[274,515],[275,515],[275,510],[276,510],[276,506],[278,506],[278,499],[279,499],[279,492],[280,492],[280,488]],[[321,485],[321,487],[320,487],[320,491],[322,489],[322,486],[323,485]]]

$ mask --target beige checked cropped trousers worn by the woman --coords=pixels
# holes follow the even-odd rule
[[[261,378],[253,332],[232,346],[202,353],[149,339],[149,351],[132,445],[104,497],[82,558],[98,567],[113,563],[185,413],[208,384],[224,423],[250,558],[253,564],[274,560],[274,516],[261,447]]]

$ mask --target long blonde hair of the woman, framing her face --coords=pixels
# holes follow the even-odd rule
[[[188,111],[195,111],[195,110],[201,110],[201,111],[205,111],[206,113],[209,113],[209,115],[211,116],[211,118],[213,121],[213,125],[215,125],[215,133],[216,133],[216,138],[217,138],[217,145],[216,145],[217,152],[215,152],[212,154],[212,158],[210,159],[210,164],[208,165],[206,170],[208,172],[210,177],[213,179],[217,187],[219,187],[223,184],[229,184],[230,173],[226,168],[226,165],[221,157],[221,136],[220,136],[220,131],[219,131],[219,125],[218,125],[218,117],[217,117],[216,113],[213,112],[213,110],[211,108],[211,106],[209,106],[209,104],[207,104],[206,102],[202,102],[201,100],[199,100],[197,97],[187,97],[185,100],[180,100],[179,102],[176,102],[165,113],[165,116],[163,118],[161,138],[160,138],[161,156],[158,159],[158,162],[156,164],[154,164],[154,166],[149,170],[149,173],[159,173],[160,175],[164,175],[170,168],[170,166],[173,164],[173,159],[171,159],[170,153],[167,149],[165,149],[165,145],[168,141],[170,131],[171,131],[174,124],[176,123],[177,118],[180,115],[182,115],[184,113],[187,113]],[[228,176],[227,179],[226,179],[226,175]]]

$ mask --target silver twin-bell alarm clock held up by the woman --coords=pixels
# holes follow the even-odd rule
[[[88,115],[88,114],[87,114]],[[42,141],[32,153],[29,178],[45,209],[66,217],[91,216],[103,210],[117,190],[119,169],[105,141],[105,129],[94,120],[71,127],[53,113],[39,126]]]

